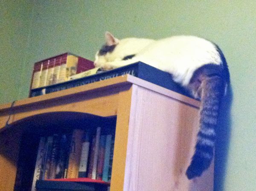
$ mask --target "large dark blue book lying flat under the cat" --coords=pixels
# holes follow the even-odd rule
[[[137,78],[141,78],[145,81],[149,81],[153,84],[157,84],[169,90],[181,93],[185,96],[189,96],[188,93],[179,84],[172,80],[172,75],[168,72],[163,72],[162,70],[151,67],[143,62],[137,62],[134,64],[129,64],[124,67],[119,67],[109,71],[90,75],[84,78],[66,81],[60,84],[54,84],[47,87],[32,89],[30,97],[40,96],[47,93],[57,92],[60,90],[66,90],[72,87],[90,84],[96,81],[102,81],[105,79],[114,78],[126,74],[133,75]]]

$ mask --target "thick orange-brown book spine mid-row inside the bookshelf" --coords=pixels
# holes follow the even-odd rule
[[[73,130],[71,151],[68,162],[67,178],[78,178],[79,162],[83,143],[84,130]]]

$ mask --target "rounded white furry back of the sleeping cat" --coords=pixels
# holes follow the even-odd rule
[[[204,38],[196,36],[172,36],[149,44],[141,55],[155,56],[168,64],[201,66],[203,64],[221,64],[218,47]]]

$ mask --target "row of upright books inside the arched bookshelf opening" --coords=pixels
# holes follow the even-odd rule
[[[32,191],[38,180],[87,177],[110,182],[114,135],[75,129],[69,134],[41,137],[35,164]]]

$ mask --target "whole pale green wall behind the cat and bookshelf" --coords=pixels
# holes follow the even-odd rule
[[[118,38],[185,34],[217,43],[229,64],[233,102],[224,125],[230,130],[218,139],[215,191],[256,190],[255,1],[23,0],[0,8],[1,103],[27,97],[35,61],[67,51],[93,60],[107,30]]]

